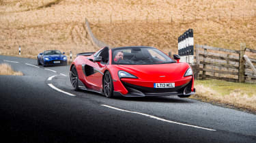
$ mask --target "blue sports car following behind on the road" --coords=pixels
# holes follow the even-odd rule
[[[67,65],[67,57],[65,52],[61,53],[59,50],[45,50],[38,54],[38,65]]]

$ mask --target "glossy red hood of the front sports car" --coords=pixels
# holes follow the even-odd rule
[[[147,80],[180,80],[190,65],[188,63],[167,63],[155,65],[118,65],[124,70],[140,79]]]

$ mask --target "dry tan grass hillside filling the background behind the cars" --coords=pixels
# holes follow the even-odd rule
[[[0,0],[0,54],[95,51],[85,17],[111,46],[177,53],[177,37],[192,28],[195,44],[256,49],[256,0]]]

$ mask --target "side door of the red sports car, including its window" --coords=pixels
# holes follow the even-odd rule
[[[101,61],[95,61],[99,57],[102,57]],[[85,76],[91,89],[100,91],[102,89],[102,78],[104,76],[104,69],[109,63],[109,48],[103,48],[99,54],[96,54],[91,62],[88,62],[85,67]]]

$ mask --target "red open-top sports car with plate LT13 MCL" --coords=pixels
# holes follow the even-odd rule
[[[76,55],[70,66],[70,82],[76,91],[85,89],[106,97],[195,94],[190,65],[180,63],[177,54],[173,58],[176,61],[148,46],[104,47]]]

